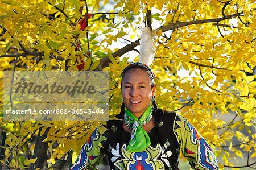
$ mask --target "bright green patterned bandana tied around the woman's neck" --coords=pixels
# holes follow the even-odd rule
[[[152,119],[153,110],[153,107],[149,105],[141,118],[138,119],[130,110],[125,109],[125,125],[132,129],[131,139],[127,146],[128,151],[142,152],[150,146],[150,138],[142,126],[146,125]]]

